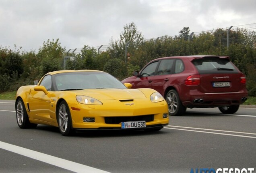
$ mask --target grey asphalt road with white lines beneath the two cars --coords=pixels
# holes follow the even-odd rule
[[[198,168],[199,173],[221,168],[223,173],[224,168],[244,168],[249,173],[254,168],[256,173],[255,112],[255,107],[234,115],[217,108],[188,109],[155,133],[87,131],[64,137],[45,125],[19,129],[14,101],[0,100],[0,172],[196,173]]]

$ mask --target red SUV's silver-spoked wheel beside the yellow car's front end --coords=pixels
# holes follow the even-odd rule
[[[186,112],[186,107],[184,107],[180,101],[179,94],[176,90],[170,90],[165,100],[168,105],[169,115],[179,116]]]

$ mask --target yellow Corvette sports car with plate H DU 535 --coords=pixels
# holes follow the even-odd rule
[[[37,85],[18,89],[17,123],[21,129],[56,126],[64,136],[88,129],[157,131],[168,125],[164,98],[153,89],[131,87],[98,70],[49,72]]]

